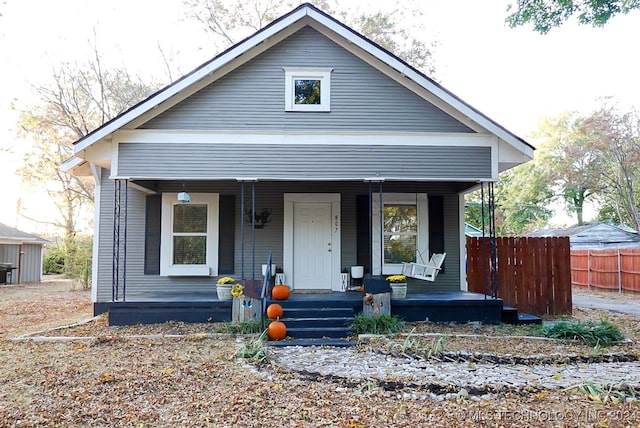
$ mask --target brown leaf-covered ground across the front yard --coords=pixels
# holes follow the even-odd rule
[[[1,287],[1,286],[0,286]],[[246,338],[205,336],[212,326],[110,328],[104,318],[51,335],[83,341],[14,341],[21,334],[91,316],[89,294],[66,282],[0,288],[0,425],[210,427],[638,426],[637,401],[603,403],[578,390],[496,394],[490,400],[415,399],[410,388],[256,366],[235,354]],[[602,313],[577,310],[578,318]],[[633,340],[633,317],[610,315]],[[592,355],[589,347],[513,339],[498,326],[408,326],[451,335],[445,350]],[[184,337],[131,338],[137,334]],[[453,338],[455,334],[474,337]],[[491,336],[491,337],[487,337]],[[394,339],[395,340],[395,339]],[[404,341],[398,338],[397,343]],[[431,339],[429,339],[431,340]],[[637,345],[607,352],[638,354]],[[322,352],[318,349],[316,352]],[[363,359],[367,352],[363,352]],[[363,362],[364,363],[364,362]],[[435,363],[435,362],[434,362]],[[640,376],[640,374],[630,374]],[[595,385],[598,380],[594,379]],[[386,389],[385,389],[386,388]],[[602,398],[602,397],[600,397]]]

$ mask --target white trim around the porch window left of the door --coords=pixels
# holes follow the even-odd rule
[[[162,223],[160,244],[160,276],[216,276],[218,275],[218,193],[190,193],[194,204],[207,204],[207,261],[204,265],[174,265],[172,219],[173,206],[181,204],[177,193],[162,194]]]

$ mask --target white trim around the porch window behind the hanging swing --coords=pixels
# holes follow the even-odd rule
[[[383,263],[380,266],[380,257],[384,251],[383,242],[380,240],[380,194],[372,195],[372,259],[373,272],[381,275],[397,275],[402,272],[401,263]],[[429,257],[429,205],[426,193],[383,193],[383,204],[408,204],[418,207],[418,236],[416,248],[416,261],[428,261]]]

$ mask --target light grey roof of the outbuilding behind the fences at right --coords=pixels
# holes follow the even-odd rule
[[[529,237],[568,236],[572,250],[640,248],[640,235],[633,229],[606,223],[573,226],[564,229],[541,229]]]

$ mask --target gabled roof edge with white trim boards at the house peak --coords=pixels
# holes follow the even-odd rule
[[[131,124],[136,121],[136,119],[139,120],[141,116],[149,114],[154,109],[164,111],[164,109],[177,104],[188,96],[187,94],[182,95],[183,93],[193,93],[206,86],[206,84],[228,73],[229,70],[226,68],[228,68],[230,64],[242,58],[248,61],[255,55],[268,49],[270,43],[273,43],[274,40],[276,42],[282,40],[305,25],[311,25],[316,30],[330,36],[334,41],[339,40],[345,44],[345,46],[349,46],[354,54],[369,64],[388,68],[395,73],[399,79],[401,78],[405,86],[412,85],[415,87],[415,85],[417,85],[418,89],[425,90],[432,94],[436,100],[439,101],[439,104],[434,104],[440,107],[448,106],[452,108],[462,117],[469,118],[480,127],[507,142],[523,154],[523,161],[533,157],[534,148],[525,140],[480,113],[393,53],[365,38],[309,3],[304,3],[286,15],[276,19],[252,36],[230,47],[189,74],[183,76],[181,79],[159,90],[129,110],[87,134],[85,137],[79,139],[74,143],[74,155],[82,157],[82,151],[122,127]],[[238,65],[241,63],[242,61],[238,62]],[[71,170],[81,163],[82,162],[78,162],[77,159],[70,159],[65,162],[63,169]]]

